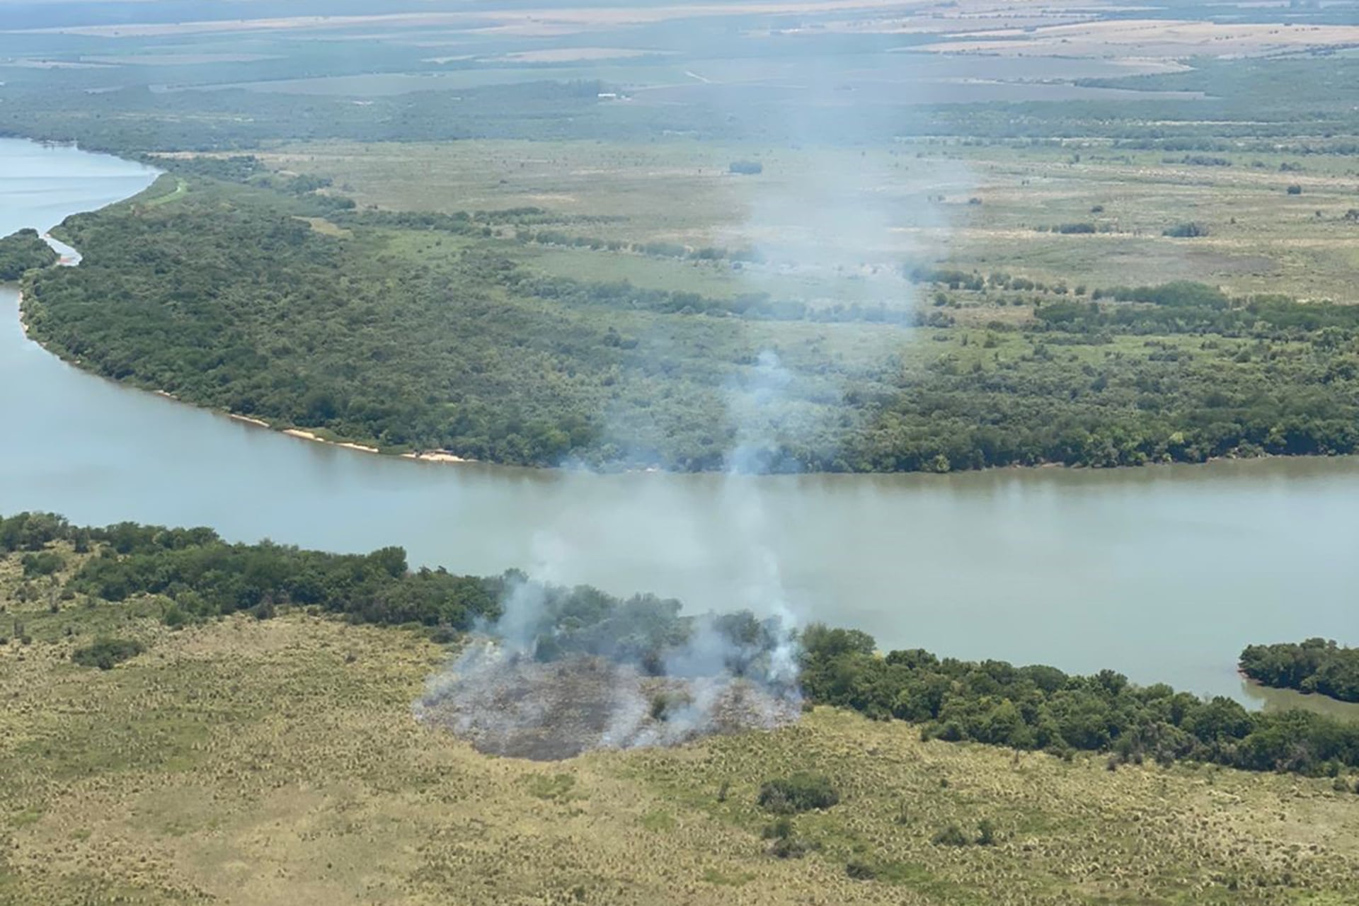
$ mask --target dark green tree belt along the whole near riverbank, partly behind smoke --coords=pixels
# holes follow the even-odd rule
[[[412,572],[400,547],[340,556],[273,543],[231,545],[207,528],[132,523],[79,528],[46,513],[0,520],[3,551],[56,553],[58,541],[84,554],[65,580],[69,591],[111,602],[152,595],[169,625],[241,610],[266,619],[280,607],[315,606],[357,622],[423,626],[453,641],[477,618],[497,617],[506,596],[529,585],[519,573],[481,579],[443,569]],[[531,651],[540,660],[587,653],[655,671],[666,652],[694,632],[696,618],[681,615],[674,600],[622,599],[588,587],[529,587],[537,617],[525,625],[535,636]],[[747,652],[726,664],[738,672],[758,671],[761,656],[786,634],[776,622],[747,613],[707,621]],[[1223,697],[1204,701],[1166,685],[1137,686],[1110,670],[1078,676],[1055,667],[962,662],[925,651],[881,655],[871,636],[824,625],[803,628],[799,640],[800,685],[810,701],[878,720],[906,720],[943,740],[1057,755],[1101,751],[1110,754],[1110,767],[1143,759],[1307,774],[1359,767],[1359,724],[1310,712],[1248,712]],[[80,649],[80,657],[111,666],[137,653],[133,645],[109,642]],[[1246,655],[1257,659],[1252,649]]]

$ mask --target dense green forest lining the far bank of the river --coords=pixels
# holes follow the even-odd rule
[[[496,231],[548,220],[538,208],[355,211],[326,181],[249,158],[174,166],[147,197],[64,224],[84,264],[30,278],[31,333],[109,378],[277,427],[673,470],[733,467],[738,446],[771,471],[1359,448],[1349,306],[932,270],[911,273],[919,304],[708,297],[533,270]],[[313,228],[323,217],[344,232]],[[1031,315],[951,314],[1014,306]],[[809,325],[871,352],[828,355]]]

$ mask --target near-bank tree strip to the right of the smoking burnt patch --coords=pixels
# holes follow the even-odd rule
[[[1359,767],[1359,724],[1302,710],[1248,712],[1166,685],[1135,686],[1110,670],[1071,676],[1055,667],[939,659],[927,651],[874,653],[858,630],[809,626],[805,693],[874,719],[921,724],[928,738],[1055,754],[1112,754],[1110,767],[1154,759],[1216,762],[1309,774]]]

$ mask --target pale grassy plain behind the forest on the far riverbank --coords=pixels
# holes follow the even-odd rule
[[[898,297],[871,285],[902,264],[1048,283],[1200,280],[1231,293],[1352,302],[1359,170],[1345,156],[901,141],[790,148],[673,141],[294,144],[270,166],[332,177],[395,211],[538,206],[572,235],[757,249],[764,266],[588,250],[538,254],[548,273],[708,295]],[[727,171],[753,159],[764,173]],[[1215,160],[1216,166],[1192,163]],[[1282,167],[1287,167],[1282,170]],[[1288,194],[1296,186],[1299,194]],[[1162,235],[1182,223],[1208,235]],[[1089,223],[1094,235],[1051,232]],[[864,285],[870,284],[870,285]]]

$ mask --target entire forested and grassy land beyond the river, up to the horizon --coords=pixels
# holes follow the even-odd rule
[[[381,20],[342,54],[338,20],[300,42],[242,24],[249,60],[220,56],[235,26],[163,23],[169,60],[137,30],[0,37],[5,58],[52,64],[5,69],[0,132],[171,170],[68,224],[86,273],[31,281],[34,336],[280,428],[501,463],[709,470],[746,446],[754,469],[945,471],[1355,450],[1359,62],[1339,38],[1243,56],[1231,38],[1233,58],[1132,77],[1095,62],[1106,50],[1052,45],[996,62],[1000,95],[920,103],[881,86],[947,61],[900,50],[966,39],[966,23],[894,27],[889,52],[871,27],[799,11],[795,50],[757,37],[766,14],[724,12],[531,39],[447,24],[457,58],[416,56]],[[1324,30],[1339,14],[1287,16]],[[569,60],[603,35],[640,56],[516,56]],[[834,94],[787,92],[810,46]],[[730,72],[709,80],[709,62]],[[912,289],[902,265],[965,280]],[[1229,304],[1080,292],[1147,274]],[[766,350],[790,380],[780,405],[749,406]]]

